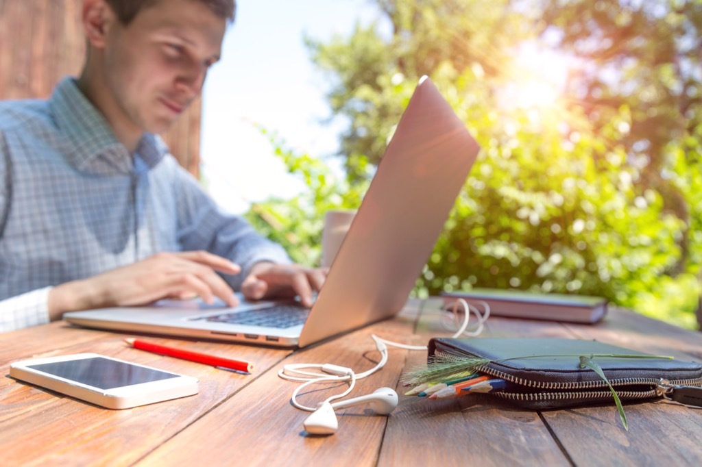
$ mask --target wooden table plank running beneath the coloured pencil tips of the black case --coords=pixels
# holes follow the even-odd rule
[[[433,308],[433,309],[432,309]],[[450,337],[435,306],[420,318],[418,337]],[[489,318],[481,337],[570,337],[559,323]],[[406,368],[426,363],[414,352]],[[567,466],[548,428],[536,412],[520,410],[489,395],[455,400],[400,396],[388,420],[378,466],[430,465]]]

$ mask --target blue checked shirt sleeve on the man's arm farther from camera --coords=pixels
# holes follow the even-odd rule
[[[176,163],[177,165],[177,163]],[[185,169],[177,165],[178,241],[183,250],[207,250],[241,266],[236,276],[223,275],[238,289],[253,264],[289,264],[287,252],[253,229],[241,216],[225,212]]]

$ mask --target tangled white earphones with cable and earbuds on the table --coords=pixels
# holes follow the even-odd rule
[[[465,302],[464,299],[457,299],[456,302],[453,303],[451,309],[442,309],[442,325],[444,325],[446,329],[450,329],[451,326],[453,326],[454,328],[456,326],[458,327],[458,330],[456,330],[456,333],[453,334],[452,337],[475,337],[482,332],[484,323],[490,316],[490,307],[486,302],[479,303],[482,304],[482,306],[484,307],[484,311],[482,312],[476,306]],[[461,311],[463,311],[462,318]],[[470,324],[471,314],[475,315],[477,319],[477,325],[475,326],[474,330],[469,331],[468,325]],[[376,393],[373,393],[373,395],[362,396],[361,398],[331,404],[332,400],[343,398],[345,395],[348,395],[351,391],[353,391],[357,379],[369,377],[371,374],[383,368],[385,366],[385,363],[388,363],[388,346],[406,348],[409,350],[427,350],[427,346],[411,346],[407,344],[399,344],[397,342],[382,339],[376,336],[375,334],[372,334],[371,337],[373,338],[373,341],[376,342],[376,348],[378,349],[378,353],[380,353],[380,361],[378,361],[378,364],[375,367],[371,368],[370,370],[366,370],[365,372],[356,374],[351,368],[341,367],[338,365],[331,365],[329,363],[296,363],[285,365],[284,367],[282,367],[281,370],[279,370],[278,376],[282,379],[286,379],[288,381],[301,381],[303,383],[300,384],[300,386],[298,386],[298,388],[296,388],[295,391],[293,391],[293,394],[291,396],[291,402],[295,407],[297,407],[300,410],[307,410],[308,412],[323,412],[317,414],[317,416],[314,417],[313,421],[310,421],[310,419],[312,419],[312,416],[310,416],[310,419],[305,421],[305,429],[307,430],[307,432],[314,434],[333,433],[333,431],[336,429],[336,416],[333,414],[333,408],[335,406],[348,407],[349,405],[355,405],[355,403],[357,403],[355,401],[357,400],[359,401],[358,403],[364,402],[366,400],[368,400],[369,402],[378,403],[378,400],[380,400],[381,402],[383,402],[381,404],[382,409],[376,409],[376,412],[390,413],[392,412],[392,409],[395,408],[395,405],[397,405],[397,394],[395,394],[395,391],[393,391],[390,388],[381,388],[383,391],[378,389],[376,393],[380,394],[377,397],[374,396]],[[309,371],[311,369],[318,369],[322,372]],[[333,395],[330,398],[327,398],[326,400],[324,400],[324,402],[321,402],[318,407],[307,407],[298,402],[298,394],[300,393],[300,391],[303,390],[303,388],[306,388],[311,384],[334,381],[347,381],[349,387],[343,393]],[[389,391],[391,391],[392,394],[395,394],[395,405],[392,405],[391,403],[392,394],[390,394]],[[389,407],[389,405],[391,405],[392,407]],[[331,417],[333,417],[333,419],[331,419]]]

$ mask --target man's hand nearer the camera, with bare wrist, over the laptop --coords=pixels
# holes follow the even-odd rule
[[[234,291],[215,271],[237,274],[241,268],[204,251],[158,253],[98,276],[54,287],[48,296],[48,310],[51,319],[59,319],[66,311],[144,305],[168,297],[195,295],[206,303],[219,297],[235,306],[238,300]]]

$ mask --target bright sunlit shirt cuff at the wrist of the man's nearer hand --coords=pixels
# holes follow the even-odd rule
[[[32,290],[0,302],[0,332],[49,322],[48,293],[53,287]]]

